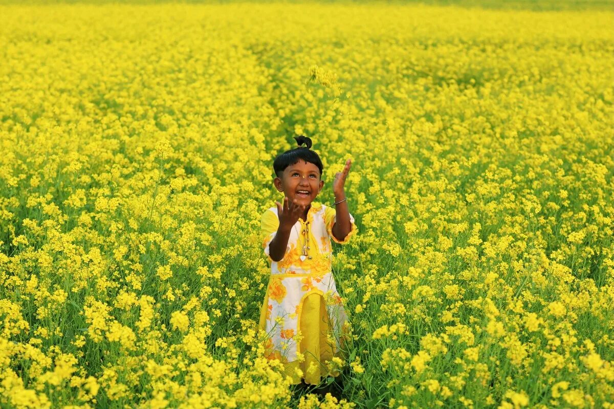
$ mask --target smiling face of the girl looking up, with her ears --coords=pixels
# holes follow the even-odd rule
[[[300,159],[297,163],[284,169],[281,178],[276,177],[273,184],[288,198],[288,201],[297,201],[298,204],[311,204],[324,186],[320,180],[320,170],[313,163]]]

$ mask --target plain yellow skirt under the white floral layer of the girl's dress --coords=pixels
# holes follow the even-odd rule
[[[260,310],[260,329],[265,331],[266,313],[268,305],[268,289]],[[292,378],[292,384],[301,383],[301,377],[297,375],[295,369],[303,372],[302,379],[308,384],[318,384],[322,378],[332,376],[337,377],[339,371],[333,369],[329,371],[326,361],[331,361],[334,356],[344,359],[342,350],[335,351],[335,340],[328,341],[330,319],[321,294],[309,294],[303,300],[300,316],[300,331],[303,336],[300,341],[300,353],[305,360],[303,362],[283,362],[284,372]],[[340,338],[341,345],[344,345],[344,337]]]

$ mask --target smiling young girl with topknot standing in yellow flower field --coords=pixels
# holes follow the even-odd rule
[[[356,233],[344,184],[351,161],[333,180],[331,207],[314,202],[324,186],[322,161],[311,139],[295,137],[298,147],[273,162],[273,184],[284,193],[262,215],[264,253],[271,262],[271,278],[260,312],[260,328],[267,334],[266,357],[279,359],[293,384],[320,383],[329,372],[326,361],[341,357],[347,316],[337,292],[332,267],[332,239],[347,243]],[[301,147],[303,143],[306,147]],[[330,364],[330,362],[329,362]],[[296,369],[303,373],[301,377]]]

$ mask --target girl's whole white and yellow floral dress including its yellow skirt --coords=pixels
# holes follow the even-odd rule
[[[340,347],[347,334],[348,317],[336,289],[332,267],[332,239],[347,243],[357,231],[354,217],[349,216],[352,229],[344,240],[333,236],[335,208],[312,202],[307,220],[301,218],[293,226],[286,254],[273,261],[269,244],[277,234],[277,207],[262,215],[262,245],[271,262],[271,278],[266,288],[260,312],[260,329],[268,335],[265,354],[279,359],[292,383],[300,383],[296,369],[303,372],[306,383],[317,384],[330,370],[326,361],[342,357]],[[306,235],[309,236],[307,258],[303,255]]]

